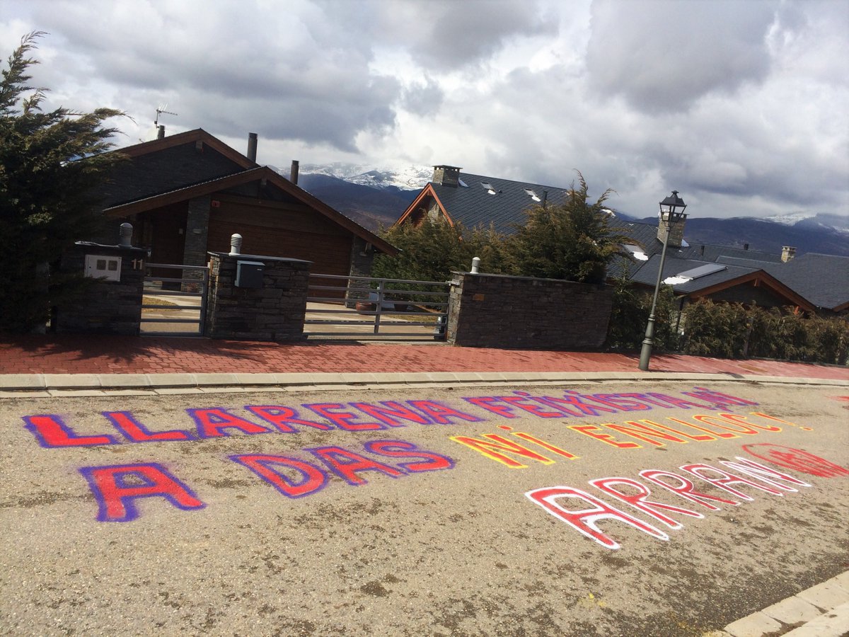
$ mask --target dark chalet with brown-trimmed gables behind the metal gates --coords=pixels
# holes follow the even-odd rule
[[[110,226],[129,221],[134,243],[155,263],[205,265],[207,251],[312,262],[312,273],[368,274],[374,252],[397,249],[280,176],[256,164],[256,135],[242,155],[202,129],[121,149],[128,160],[104,188]],[[293,175],[296,172],[293,171]]]

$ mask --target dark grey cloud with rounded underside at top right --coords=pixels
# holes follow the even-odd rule
[[[591,85],[657,112],[761,82],[777,6],[767,0],[596,0],[587,51]]]

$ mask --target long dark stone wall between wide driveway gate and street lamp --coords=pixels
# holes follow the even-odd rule
[[[613,289],[559,279],[453,273],[447,341],[464,347],[595,349]]]

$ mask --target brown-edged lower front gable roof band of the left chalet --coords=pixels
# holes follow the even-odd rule
[[[234,175],[211,179],[203,183],[195,183],[191,186],[186,186],[185,188],[169,190],[167,192],[144,197],[143,199],[130,201],[118,206],[111,206],[104,210],[104,214],[112,217],[127,217],[128,215],[154,210],[155,208],[169,206],[179,201],[194,199],[194,197],[220,192],[224,189],[231,189],[235,186],[261,180],[265,180],[267,183],[271,183],[278,189],[283,190],[284,193],[290,194],[302,204],[320,212],[324,217],[328,217],[343,228],[349,230],[352,234],[356,234],[363,240],[368,241],[368,243],[374,245],[374,247],[381,252],[389,255],[397,254],[398,249],[394,245],[380,239],[379,236],[372,233],[367,228],[363,228],[363,226],[355,222],[353,219],[346,217],[341,212],[336,211],[334,208],[325,204],[322,200],[319,200],[314,195],[306,192],[306,190],[299,188],[294,183],[291,183],[289,179],[284,178],[268,166],[257,166],[250,170],[237,172]]]

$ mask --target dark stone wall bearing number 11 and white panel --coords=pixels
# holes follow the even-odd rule
[[[121,280],[90,281],[82,296],[56,307],[54,329],[65,334],[138,335],[147,250],[80,241],[63,255],[62,269],[84,272],[86,255],[120,256]]]

